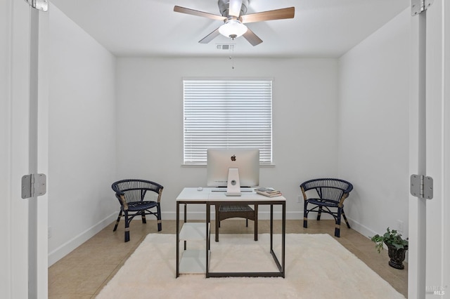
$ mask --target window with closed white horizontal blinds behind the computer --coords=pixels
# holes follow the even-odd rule
[[[231,147],[258,148],[259,163],[272,163],[272,81],[184,80],[184,164]]]

